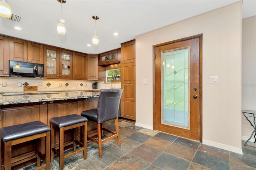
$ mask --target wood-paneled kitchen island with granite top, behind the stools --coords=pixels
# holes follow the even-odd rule
[[[77,114],[88,109],[97,108],[98,92],[94,91],[47,91],[21,92],[0,94],[0,127],[18,125],[32,121],[41,121],[50,126],[52,117]],[[105,125],[104,125],[105,126]],[[96,129],[97,124],[88,122],[88,131]],[[80,130],[78,129],[78,134]],[[58,133],[55,133],[55,145],[58,145]],[[94,136],[94,134],[92,134]],[[80,135],[78,135],[80,140]],[[64,142],[72,141],[72,132],[67,130]],[[44,146],[41,150],[44,150]],[[12,156],[20,154],[32,156],[36,151],[36,142],[29,141],[12,148]],[[3,144],[1,143],[1,157],[3,160]],[[43,153],[44,154],[44,153]],[[1,161],[2,162],[2,161]],[[33,162],[27,162],[31,164]],[[1,165],[2,166],[2,165]],[[18,167],[17,167],[18,168]]]

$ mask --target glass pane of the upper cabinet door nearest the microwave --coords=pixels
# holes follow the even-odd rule
[[[53,49],[46,50],[47,62],[46,62],[46,73],[47,75],[57,75],[57,51]]]

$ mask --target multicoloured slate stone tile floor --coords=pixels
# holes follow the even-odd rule
[[[113,122],[108,128],[114,130]],[[248,142],[243,154],[215,148],[200,142],[135,126],[119,120],[121,146],[116,138],[102,145],[88,142],[87,160],[82,152],[64,160],[64,170],[252,170],[256,169],[256,144]],[[108,135],[108,134],[106,134]],[[69,151],[69,150],[68,150]],[[66,152],[68,152],[66,151]],[[51,170],[58,170],[58,157]],[[33,169],[33,166],[23,168]]]

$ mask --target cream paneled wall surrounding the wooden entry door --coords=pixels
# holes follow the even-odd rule
[[[152,128],[152,46],[203,34],[203,143],[242,153],[241,8],[237,2],[136,36],[136,125]],[[219,83],[209,83],[213,75]]]

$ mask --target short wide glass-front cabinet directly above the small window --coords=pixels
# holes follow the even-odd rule
[[[98,55],[98,65],[120,63],[121,49],[111,50]]]

